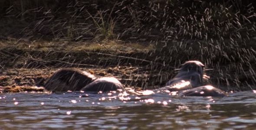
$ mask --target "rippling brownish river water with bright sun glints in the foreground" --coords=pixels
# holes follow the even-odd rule
[[[256,94],[0,94],[0,130],[255,130]]]

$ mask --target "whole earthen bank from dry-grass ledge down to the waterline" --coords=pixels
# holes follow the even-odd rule
[[[176,75],[174,69],[188,60],[200,60],[207,68],[210,82],[224,91],[245,91],[254,86],[256,63],[253,50],[240,53],[244,61],[230,61],[225,55],[213,57],[182,48],[135,49],[123,45],[118,49],[65,50],[0,49],[0,86],[2,92],[43,91],[43,83],[60,68],[78,68],[96,76],[115,77],[126,87],[154,89]],[[245,55],[250,54],[250,58]],[[203,56],[203,57],[202,57]],[[224,58],[223,58],[224,57]],[[247,56],[249,57],[249,56]],[[225,60],[226,59],[226,60]],[[247,60],[247,61],[246,61]]]

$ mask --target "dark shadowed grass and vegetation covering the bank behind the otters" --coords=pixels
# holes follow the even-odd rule
[[[256,89],[255,7],[255,0],[0,0],[0,74],[137,66],[144,72],[134,71],[142,76],[136,84],[145,88],[199,60],[213,68],[213,85]]]

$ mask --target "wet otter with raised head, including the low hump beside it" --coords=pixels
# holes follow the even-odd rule
[[[210,85],[203,86],[203,80],[208,80],[209,76],[204,74],[204,65],[199,61],[185,62],[179,69],[178,74],[168,81],[163,88],[157,91],[180,91],[181,96],[227,96],[226,92],[214,88]]]

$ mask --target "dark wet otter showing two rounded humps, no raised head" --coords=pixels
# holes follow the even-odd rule
[[[116,91],[124,86],[114,77],[96,78],[86,71],[63,68],[56,71],[43,85],[47,91]]]

